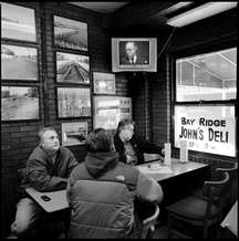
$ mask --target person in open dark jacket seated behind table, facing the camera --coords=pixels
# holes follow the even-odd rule
[[[143,164],[144,153],[164,156],[165,151],[162,147],[136,136],[132,119],[122,119],[118,123],[117,133],[114,136],[114,146],[119,154],[119,160],[131,165]]]

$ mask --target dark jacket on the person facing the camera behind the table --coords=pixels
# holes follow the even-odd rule
[[[144,153],[146,154],[159,154],[162,155],[162,147],[149,143],[147,140],[143,140],[141,137],[133,135],[132,139],[129,140],[132,144],[132,147],[135,150],[135,155],[137,156],[137,163],[136,165],[143,164],[144,160]],[[119,161],[126,163],[126,155],[125,155],[125,147],[123,142],[121,140],[118,134],[116,133],[114,136],[114,146],[115,149],[119,154]]]

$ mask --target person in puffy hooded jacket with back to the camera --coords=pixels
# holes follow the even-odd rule
[[[87,155],[71,172],[66,197],[71,206],[70,239],[141,238],[134,201],[163,200],[162,187],[136,167],[118,161],[113,136],[92,130]]]

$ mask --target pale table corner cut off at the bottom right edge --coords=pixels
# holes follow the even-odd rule
[[[235,202],[231,210],[221,222],[221,227],[227,227],[235,235],[238,235],[238,201]]]

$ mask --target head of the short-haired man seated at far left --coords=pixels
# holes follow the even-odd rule
[[[43,127],[39,130],[40,145],[49,153],[55,153],[60,147],[58,133],[53,127]]]

